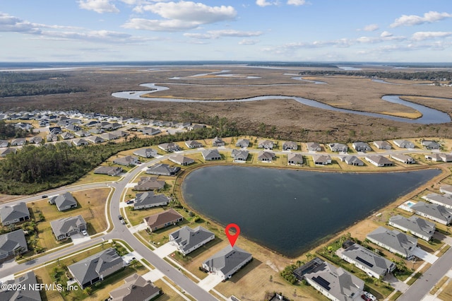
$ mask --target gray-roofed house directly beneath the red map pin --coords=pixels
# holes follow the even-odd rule
[[[223,280],[232,277],[242,266],[249,263],[253,256],[237,246],[227,246],[203,262],[203,269],[215,273]]]

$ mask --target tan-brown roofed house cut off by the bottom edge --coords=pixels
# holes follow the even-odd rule
[[[109,293],[109,301],[149,301],[161,293],[160,288],[137,273],[124,278],[124,282]]]

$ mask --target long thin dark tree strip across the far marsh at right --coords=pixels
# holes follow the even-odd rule
[[[362,76],[368,78],[392,78],[392,79],[418,79],[422,81],[452,81],[452,72],[448,71],[422,71],[422,72],[381,72],[381,71],[301,71],[299,75],[311,76],[331,76],[331,75],[345,75],[345,76]]]

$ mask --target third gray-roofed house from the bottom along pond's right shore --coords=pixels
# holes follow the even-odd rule
[[[367,235],[367,239],[406,259],[412,258],[412,252],[417,246],[417,238],[398,230],[391,231],[384,227],[376,228],[376,230],[370,232]]]

